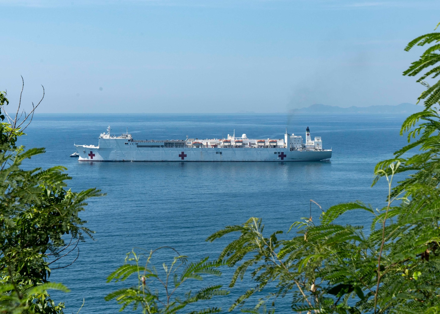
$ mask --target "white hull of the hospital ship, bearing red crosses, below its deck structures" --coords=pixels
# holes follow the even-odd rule
[[[286,150],[280,148],[148,148],[112,150],[78,147],[79,161],[322,161],[331,150]]]

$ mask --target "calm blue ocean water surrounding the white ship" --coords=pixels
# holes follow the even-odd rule
[[[80,245],[73,265],[54,270],[50,280],[62,282],[69,293],[52,292],[55,301],[66,302],[66,313],[117,313],[115,301],[104,296],[121,285],[106,283],[106,277],[124,263],[132,248],[146,250],[170,245],[190,261],[210,256],[216,259],[231,237],[206,242],[216,230],[260,217],[265,232],[287,231],[290,225],[309,215],[310,199],[323,209],[346,201],[360,200],[373,207],[385,205],[384,180],[370,187],[374,165],[391,158],[406,143],[399,135],[404,116],[392,115],[296,115],[283,114],[119,114],[55,115],[37,114],[19,140],[27,147],[45,147],[46,153],[25,162],[24,167],[68,168],[72,190],[97,187],[105,197],[91,199],[81,218],[96,233],[95,240]],[[69,157],[77,144],[98,144],[99,133],[111,125],[112,134],[125,132],[135,139],[184,139],[222,137],[228,133],[249,138],[283,138],[290,133],[312,138],[321,136],[324,148],[333,148],[331,161],[322,162],[78,162]],[[320,209],[312,206],[317,221]],[[368,218],[347,214],[339,223],[359,225]],[[367,228],[368,229],[368,228]],[[290,237],[284,234],[282,237]],[[59,266],[70,263],[68,256]],[[172,257],[158,254],[156,263]],[[231,270],[220,278],[207,278],[199,284],[220,282],[228,286]],[[125,285],[130,285],[129,283]],[[225,311],[246,287],[248,279],[231,294],[203,303]],[[288,312],[287,296],[276,303],[279,312]],[[252,306],[249,303],[249,306]],[[131,310],[125,310],[131,312]]]

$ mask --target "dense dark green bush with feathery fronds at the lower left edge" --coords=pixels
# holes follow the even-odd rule
[[[92,234],[78,213],[88,197],[100,194],[95,189],[64,190],[70,177],[61,166],[21,168],[26,158],[39,153],[44,150],[10,150],[7,146],[0,153],[0,298],[2,302],[14,300],[11,307],[18,304],[29,313],[61,313],[63,304],[55,305],[45,292],[46,287],[62,288],[48,284],[51,267],[84,241],[83,234]],[[68,243],[66,235],[70,236]],[[14,289],[5,290],[11,286]],[[37,296],[33,293],[36,288],[40,289]]]

